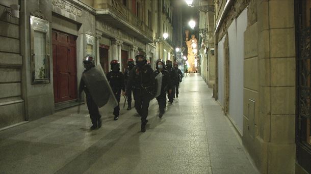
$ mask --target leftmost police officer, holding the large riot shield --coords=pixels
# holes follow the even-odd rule
[[[86,73],[93,67],[95,67],[94,58],[91,56],[86,56],[83,59],[83,66],[86,69],[83,73]],[[81,93],[82,91],[85,92],[86,95],[86,104],[90,113],[90,119],[92,122],[91,130],[95,130],[97,128],[101,127],[101,115],[99,114],[98,106],[94,102],[89,89],[86,86],[86,82],[81,78],[80,86],[79,86],[79,99],[81,99]]]

